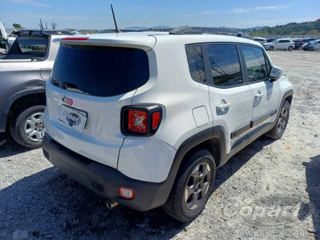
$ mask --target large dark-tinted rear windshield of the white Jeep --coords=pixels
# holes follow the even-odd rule
[[[95,96],[122,94],[147,82],[148,57],[141,49],[60,45],[50,82]]]

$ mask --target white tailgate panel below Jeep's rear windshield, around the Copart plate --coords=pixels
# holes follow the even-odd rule
[[[46,84],[46,132],[65,147],[97,162],[116,168],[124,135],[120,132],[120,109],[129,105],[134,91],[112,97],[98,97],[66,91]],[[72,107],[87,112],[80,133],[58,120],[62,97],[72,99]]]

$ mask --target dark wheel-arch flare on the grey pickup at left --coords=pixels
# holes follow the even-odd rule
[[[5,131],[5,125],[7,121],[7,115],[9,113],[10,107],[12,103],[20,98],[21,96],[36,94],[36,93],[45,93],[45,86],[37,86],[32,87],[28,89],[24,89],[21,91],[17,91],[10,95],[5,101],[2,106],[1,112],[0,112],[0,132]]]

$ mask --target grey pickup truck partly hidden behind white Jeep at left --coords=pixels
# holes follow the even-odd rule
[[[49,77],[57,44],[65,30],[18,30],[6,54],[0,55],[0,132],[9,129],[25,147],[41,146],[45,132],[45,80]]]

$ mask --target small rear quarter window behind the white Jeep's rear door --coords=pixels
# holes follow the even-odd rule
[[[190,74],[193,80],[205,82],[204,63],[201,46],[186,46]]]

